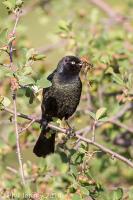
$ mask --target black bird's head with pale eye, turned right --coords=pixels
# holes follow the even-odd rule
[[[58,63],[59,73],[78,75],[82,68],[82,61],[76,56],[65,56]]]

